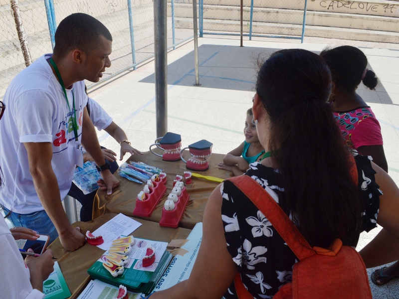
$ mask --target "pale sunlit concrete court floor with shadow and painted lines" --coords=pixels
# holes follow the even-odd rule
[[[326,46],[351,44],[360,47],[369,59],[380,83],[375,91],[363,84],[359,94],[372,107],[381,123],[390,175],[399,183],[399,45],[337,39],[296,40],[200,38],[200,87],[195,83],[194,43],[189,42],[168,54],[168,131],[182,135],[184,147],[206,139],[213,152],[226,153],[243,140],[245,111],[251,107],[258,58],[284,48],[319,52]],[[105,83],[89,96],[95,99],[126,132],[132,146],[147,151],[156,136],[154,62]],[[98,132],[102,146],[119,151],[119,145],[105,132]],[[125,156],[124,160],[128,157]],[[363,248],[381,228],[363,233]],[[369,269],[369,275],[373,269]],[[350,275],[350,274],[348,274]],[[373,298],[399,298],[399,280],[383,287],[370,282]],[[338,286],[337,286],[338,287]]]

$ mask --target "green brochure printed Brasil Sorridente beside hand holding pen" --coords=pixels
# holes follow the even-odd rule
[[[65,299],[71,296],[65,279],[59,269],[58,262],[54,263],[54,271],[43,282],[44,299]]]

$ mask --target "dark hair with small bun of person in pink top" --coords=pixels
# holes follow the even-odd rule
[[[361,81],[370,89],[377,86],[377,77],[372,70],[367,71],[363,77],[368,62],[360,49],[352,46],[326,48],[320,56],[330,67],[337,88],[351,93],[358,88]]]

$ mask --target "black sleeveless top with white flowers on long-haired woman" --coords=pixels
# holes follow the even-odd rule
[[[365,207],[362,231],[370,231],[377,226],[382,192],[375,182],[376,172],[369,158],[356,155],[355,160]],[[278,170],[259,162],[249,166],[245,175],[255,179],[278,203],[281,192],[284,192],[284,188],[278,186],[278,176],[281,175]],[[297,258],[267,218],[232,182],[224,181],[220,191],[227,250],[237,264],[242,282],[254,299],[273,298],[284,284],[291,282]],[[345,245],[356,246],[357,242],[353,240],[353,244]],[[224,298],[237,298],[234,282]]]

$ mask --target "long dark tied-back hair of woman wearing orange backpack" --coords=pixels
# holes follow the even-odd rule
[[[292,49],[261,67],[256,92],[270,119],[269,150],[281,172],[281,205],[311,246],[355,235],[360,201],[350,176],[350,152],[327,103],[331,74],[320,56]]]

